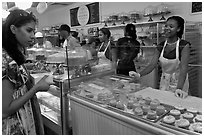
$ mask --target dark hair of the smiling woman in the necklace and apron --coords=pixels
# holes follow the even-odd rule
[[[180,31],[177,32],[177,36],[179,38],[182,38],[183,31],[184,31],[184,23],[185,23],[184,19],[182,17],[180,17],[180,16],[171,16],[171,17],[169,17],[167,19],[167,21],[170,20],[170,19],[175,20],[177,22],[178,27],[180,28]]]

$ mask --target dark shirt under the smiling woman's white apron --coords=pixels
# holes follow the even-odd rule
[[[158,46],[157,46],[157,50],[160,52],[162,52],[162,49],[164,47],[164,43],[165,41],[161,42]],[[179,60],[181,60],[181,52],[183,50],[183,48],[187,45],[191,45],[188,41],[186,40],[181,40],[179,42]],[[163,54],[164,58],[167,58],[167,59],[175,59],[176,58],[176,48],[173,49],[172,51],[170,51],[169,53],[165,52],[164,51],[164,54]]]

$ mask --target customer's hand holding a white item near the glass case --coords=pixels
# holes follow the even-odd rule
[[[38,91],[47,91],[50,88],[50,85],[54,84],[54,82],[50,78],[51,76],[45,75],[34,87]]]

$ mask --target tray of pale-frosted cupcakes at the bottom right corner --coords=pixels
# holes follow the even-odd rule
[[[160,123],[189,134],[202,134],[202,113],[194,108],[175,106]]]

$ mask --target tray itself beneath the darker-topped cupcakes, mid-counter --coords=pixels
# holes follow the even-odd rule
[[[163,118],[166,114],[168,114],[168,112],[172,109],[172,107],[169,105],[162,104],[162,103],[161,103],[161,105],[163,105],[166,108],[165,109],[166,112],[164,114],[162,114],[161,116],[156,116],[156,119],[154,119],[154,120],[148,119],[147,115],[142,115],[142,116],[135,115],[134,112],[132,111],[132,109],[127,109],[126,105],[125,105],[124,110],[110,106],[110,105],[107,105],[107,109],[113,110],[115,112],[118,112],[118,113],[123,114],[123,115],[128,116],[128,117],[131,117],[133,119],[139,119],[141,121],[148,121],[148,122],[156,123],[161,118]]]

